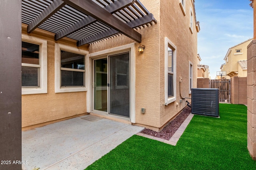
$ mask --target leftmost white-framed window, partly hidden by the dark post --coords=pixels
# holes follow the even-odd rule
[[[22,34],[22,94],[47,93],[47,41]]]

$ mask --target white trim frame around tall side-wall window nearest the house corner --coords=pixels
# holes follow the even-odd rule
[[[173,97],[168,98],[168,47],[173,50]],[[176,55],[177,55],[177,47],[167,38],[165,37],[164,42],[164,102],[165,105],[168,105],[174,101],[176,101]]]

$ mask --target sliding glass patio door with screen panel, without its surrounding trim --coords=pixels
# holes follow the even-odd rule
[[[94,110],[130,118],[130,53],[94,59],[93,64]]]

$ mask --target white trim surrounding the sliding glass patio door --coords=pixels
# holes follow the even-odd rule
[[[137,47],[138,48],[138,47]],[[130,50],[130,109],[131,109],[131,115],[130,120],[131,123],[136,123],[136,109],[135,109],[135,101],[136,101],[136,86],[135,86],[135,80],[136,80],[136,43],[130,43],[127,45],[123,45],[120,47],[114,47],[112,49],[106,49],[103,51],[98,51],[96,53],[90,53],[88,57],[90,59],[104,56],[104,55],[110,55],[113,53],[119,53],[122,51]],[[92,62],[92,60],[90,60]],[[91,64],[90,64],[91,65]],[[90,68],[91,69],[91,68]],[[91,74],[91,73],[90,73]],[[92,79],[90,78],[90,81]],[[90,82],[92,84],[92,82]],[[87,95],[86,97],[86,106],[87,106],[87,112],[90,113],[92,111],[92,87],[88,86],[90,90],[87,93],[90,93],[90,95]],[[120,118],[120,117],[118,117]]]

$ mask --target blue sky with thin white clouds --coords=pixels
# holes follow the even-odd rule
[[[253,8],[249,4],[249,0],[195,0],[200,64],[209,66],[212,79],[225,63],[228,49],[253,38]]]

